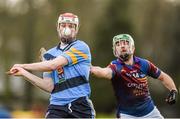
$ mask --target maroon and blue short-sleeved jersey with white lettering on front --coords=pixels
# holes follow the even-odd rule
[[[158,78],[161,71],[150,61],[134,57],[133,65],[120,59],[111,62],[112,85],[118,101],[118,113],[143,116],[154,109],[150,97],[147,76]]]

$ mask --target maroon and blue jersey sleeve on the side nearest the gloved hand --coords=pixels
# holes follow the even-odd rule
[[[147,61],[147,74],[152,78],[158,78],[161,70],[150,61]]]

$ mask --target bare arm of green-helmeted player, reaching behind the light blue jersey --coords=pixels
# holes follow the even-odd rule
[[[106,79],[112,78],[112,70],[108,67],[101,68],[99,66],[91,66],[90,71],[91,71],[91,74],[99,78],[106,78]]]

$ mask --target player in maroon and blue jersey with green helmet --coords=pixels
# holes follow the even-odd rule
[[[168,104],[176,102],[177,88],[172,78],[146,59],[134,56],[134,40],[128,34],[113,38],[113,53],[116,60],[106,68],[92,66],[95,76],[110,79],[118,102],[118,118],[163,118],[154,105],[147,76],[159,79],[169,89]]]

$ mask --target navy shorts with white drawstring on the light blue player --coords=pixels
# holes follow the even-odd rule
[[[46,118],[95,118],[95,110],[90,99],[81,97],[67,105],[49,105]]]

